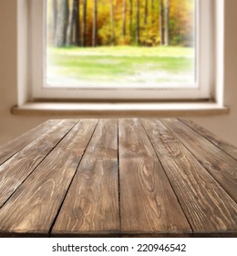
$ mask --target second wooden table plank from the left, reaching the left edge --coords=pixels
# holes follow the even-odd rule
[[[62,120],[0,165],[0,208],[75,123],[76,120]]]

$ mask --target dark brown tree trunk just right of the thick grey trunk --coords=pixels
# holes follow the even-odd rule
[[[77,5],[78,5],[77,0],[71,1],[70,12],[69,12],[70,14],[69,14],[69,20],[67,25],[67,40],[66,40],[67,46],[72,46],[74,44],[73,32],[74,32],[75,20],[77,15]]]

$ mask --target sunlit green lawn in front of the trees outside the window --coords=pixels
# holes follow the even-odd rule
[[[46,77],[66,86],[184,84],[194,81],[194,65],[193,48],[48,48]]]

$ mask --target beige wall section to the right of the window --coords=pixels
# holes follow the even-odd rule
[[[225,5],[224,103],[230,114],[192,120],[237,145],[237,1],[225,0]]]

